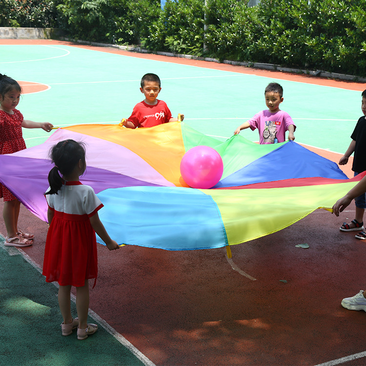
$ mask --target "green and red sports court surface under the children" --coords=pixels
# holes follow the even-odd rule
[[[296,142],[337,163],[366,88],[60,41],[0,40],[0,55],[0,72],[22,82],[24,117],[61,127],[128,117],[142,99],[141,76],[155,72],[173,114],[184,113],[193,128],[224,140],[264,109],[264,87],[278,81],[282,108],[297,125]],[[23,133],[27,146],[48,137],[38,129]],[[243,136],[258,140],[256,132]],[[366,314],[340,305],[365,286],[366,244],[338,229],[353,211],[350,206],[336,218],[316,210],[284,230],[232,246],[232,260],[224,248],[127,245],[109,252],[99,245],[90,321],[100,329],[81,342],[75,334],[61,336],[57,288],[40,273],[48,226],[22,207],[20,227],[36,239],[23,250],[0,245],[0,364],[365,365]],[[308,249],[295,246],[305,243]]]

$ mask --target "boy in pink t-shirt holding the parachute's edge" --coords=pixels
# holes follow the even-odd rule
[[[268,109],[241,124],[234,131],[234,135],[249,127],[252,131],[258,128],[259,143],[277,143],[285,142],[285,132],[288,130],[288,140],[295,140],[295,124],[290,115],[279,108],[280,103],[284,101],[283,93],[284,89],[280,84],[269,83],[264,90],[265,104]]]

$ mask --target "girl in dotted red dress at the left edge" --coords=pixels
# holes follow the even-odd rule
[[[0,74],[0,154],[11,154],[25,149],[21,128],[42,128],[51,131],[53,125],[23,119],[15,107],[19,103],[21,87],[17,81]],[[34,235],[18,230],[20,201],[0,183],[0,198],[4,198],[2,215],[6,227],[6,246],[29,246]]]

